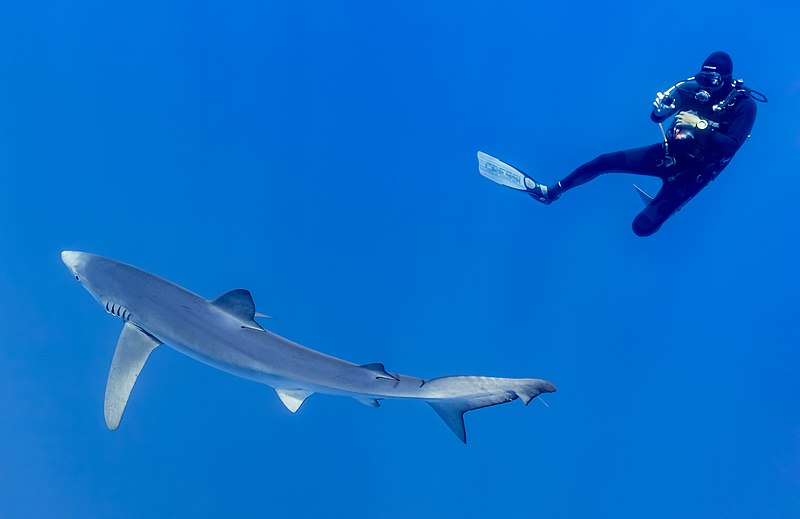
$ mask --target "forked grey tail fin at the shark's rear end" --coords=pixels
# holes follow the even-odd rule
[[[425,388],[442,395],[427,402],[464,443],[467,443],[464,427],[464,413],[467,411],[504,404],[517,398],[528,405],[541,393],[556,390],[546,380],[492,377],[442,377],[426,382]]]

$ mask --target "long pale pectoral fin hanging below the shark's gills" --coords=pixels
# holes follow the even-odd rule
[[[125,323],[122,328],[106,383],[104,414],[106,426],[112,431],[119,427],[136,377],[142,371],[150,352],[159,344],[161,342],[130,322]]]

